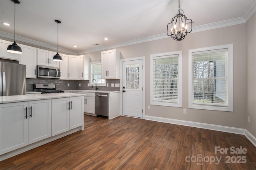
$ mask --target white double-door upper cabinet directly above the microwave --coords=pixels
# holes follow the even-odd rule
[[[59,67],[59,62],[52,60],[54,55],[56,55],[56,52],[38,48],[38,50],[37,50],[37,65]]]

